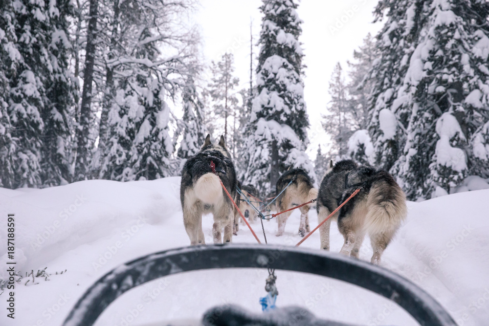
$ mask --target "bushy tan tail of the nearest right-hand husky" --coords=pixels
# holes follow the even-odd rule
[[[368,234],[385,233],[393,235],[407,216],[406,195],[399,186],[382,189],[384,185],[374,184],[368,195],[368,213],[365,231]],[[386,197],[385,192],[389,195]]]

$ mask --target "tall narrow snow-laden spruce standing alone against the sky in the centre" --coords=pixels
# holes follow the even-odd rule
[[[304,102],[301,23],[293,0],[264,0],[257,66],[258,95],[248,125],[245,182],[260,192],[274,188],[288,168],[304,168],[315,179],[305,154],[309,119]]]

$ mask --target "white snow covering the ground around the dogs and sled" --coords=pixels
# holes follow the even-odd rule
[[[409,215],[383,255],[381,265],[430,293],[459,325],[489,321],[489,190],[408,203]],[[7,257],[7,214],[15,214],[14,260]],[[186,246],[179,201],[179,178],[120,183],[92,180],[43,190],[0,188],[0,278],[7,261],[22,271],[15,283],[15,320],[6,317],[6,289],[0,294],[0,325],[61,325],[72,306],[102,275],[117,265],[169,248]],[[310,213],[311,226],[316,214]],[[204,217],[212,243],[212,217]],[[299,213],[289,218],[286,234],[270,243],[294,245]],[[259,224],[252,224],[261,235]],[[233,242],[253,243],[242,226]],[[342,237],[332,224],[333,252]],[[369,261],[369,241],[360,258]],[[316,233],[302,246],[316,250]],[[25,277],[42,270],[47,278]],[[66,272],[65,272],[66,270]],[[60,274],[63,272],[63,274]],[[58,275],[56,275],[58,273]],[[351,284],[293,272],[276,272],[277,305],[302,305],[316,316],[363,325],[417,325],[400,307]],[[147,325],[199,319],[215,305],[235,303],[259,312],[266,270],[206,270],[173,275],[135,288],[100,316],[98,326]],[[24,285],[27,283],[26,285]],[[1,292],[1,291],[0,291]],[[159,324],[155,324],[159,325]]]

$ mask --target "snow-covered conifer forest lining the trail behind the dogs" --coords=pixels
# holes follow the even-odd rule
[[[342,158],[390,172],[409,200],[487,188],[487,1],[379,1],[380,32],[347,66],[324,63],[332,140],[315,159],[298,5],[257,8],[240,88],[232,53],[202,59],[197,0],[0,0],[0,187],[179,175],[210,133],[264,193]]]

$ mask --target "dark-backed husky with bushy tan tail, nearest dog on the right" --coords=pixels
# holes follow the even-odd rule
[[[324,176],[317,197],[317,219],[322,222],[356,189],[360,192],[332,218],[345,238],[340,253],[358,258],[358,250],[368,233],[374,254],[371,262],[379,264],[401,222],[407,215],[406,196],[392,175],[374,168],[358,166],[352,160],[337,162]],[[320,228],[321,248],[330,248],[331,219]]]

